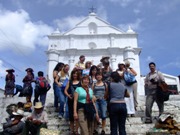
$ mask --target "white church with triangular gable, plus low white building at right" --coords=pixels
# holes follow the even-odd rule
[[[48,77],[51,83],[52,72],[58,62],[69,64],[72,70],[80,55],[85,55],[86,61],[93,61],[94,65],[100,63],[102,56],[109,56],[113,70],[118,68],[119,62],[130,61],[138,74],[138,94],[144,95],[144,79],[140,76],[139,63],[141,48],[138,47],[138,34],[130,27],[122,31],[91,12],[73,29],[65,33],[56,30],[48,38]],[[171,85],[178,84],[179,91],[178,77],[165,75],[165,78]]]

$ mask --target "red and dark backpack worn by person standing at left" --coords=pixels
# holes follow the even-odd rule
[[[49,89],[49,83],[46,80],[45,77],[39,77],[37,81],[37,86],[39,89],[48,90]]]

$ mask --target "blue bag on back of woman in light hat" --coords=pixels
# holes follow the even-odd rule
[[[136,82],[135,76],[128,71],[124,72],[124,80],[125,80],[126,85],[128,86]]]

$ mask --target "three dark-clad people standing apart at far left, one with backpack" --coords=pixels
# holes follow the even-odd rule
[[[34,88],[34,101],[35,102],[41,101],[43,105],[45,105],[47,91],[51,88],[48,80],[44,77],[44,73],[39,71],[37,73],[37,77],[34,76],[34,71],[32,68],[27,68],[25,71],[27,74],[23,78],[23,86],[15,84],[15,72],[14,69],[8,69],[7,75],[5,78],[5,97],[13,97],[18,92],[20,92],[20,96],[26,97],[27,102],[31,102],[32,94],[33,94],[33,87],[32,83],[35,83]],[[16,89],[16,92],[14,90]]]

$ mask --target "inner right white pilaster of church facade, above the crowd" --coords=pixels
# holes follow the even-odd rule
[[[119,47],[108,47],[107,50],[111,55],[111,68],[113,71],[115,71],[117,69],[116,57],[117,57],[118,53],[120,52],[120,48]]]

